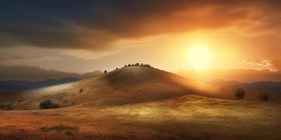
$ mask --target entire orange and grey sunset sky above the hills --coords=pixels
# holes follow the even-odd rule
[[[208,55],[200,71],[274,75],[281,70],[280,7],[258,0],[4,0],[0,64],[84,73],[141,62],[179,71],[199,70],[192,61]],[[192,52],[197,47],[206,52]]]

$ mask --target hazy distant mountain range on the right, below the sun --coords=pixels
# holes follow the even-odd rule
[[[211,80],[210,84],[219,85],[222,87],[235,87],[244,88],[244,90],[250,90],[254,92],[268,91],[270,93],[280,93],[281,94],[281,81],[261,81],[255,83],[239,83],[237,81],[226,81],[221,79]]]

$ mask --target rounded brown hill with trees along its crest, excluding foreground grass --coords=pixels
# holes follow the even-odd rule
[[[83,92],[79,92],[83,89]],[[158,69],[132,66],[117,69],[95,78],[73,83],[27,90],[14,94],[0,94],[0,104],[15,109],[38,109],[39,103],[51,99],[60,106],[111,106],[151,102],[199,94],[232,99],[221,87],[196,83],[174,73]]]

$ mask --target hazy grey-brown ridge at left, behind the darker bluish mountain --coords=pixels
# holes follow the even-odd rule
[[[28,80],[38,81],[60,78],[89,78],[98,76],[102,71],[93,71],[89,73],[68,73],[63,71],[41,69],[39,66],[0,66],[0,80]]]

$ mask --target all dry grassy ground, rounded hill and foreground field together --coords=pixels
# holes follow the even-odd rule
[[[0,140],[281,139],[280,102],[247,96],[234,100],[231,89],[157,69],[118,69],[75,83],[1,94],[0,104],[13,110],[0,111]],[[61,108],[39,109],[46,99]]]

